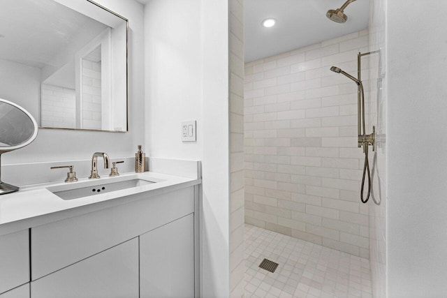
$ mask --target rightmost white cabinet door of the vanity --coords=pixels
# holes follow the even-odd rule
[[[140,236],[140,297],[194,297],[193,214]]]

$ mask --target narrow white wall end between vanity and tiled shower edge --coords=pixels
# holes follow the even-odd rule
[[[202,297],[230,295],[228,1],[202,0]]]

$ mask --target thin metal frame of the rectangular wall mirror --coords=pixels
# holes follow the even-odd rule
[[[59,128],[59,127],[48,127],[48,126],[38,126],[39,129],[62,129],[64,131],[99,131],[104,133],[128,133],[129,132],[129,20],[126,19],[126,17],[123,17],[122,15],[119,15],[118,13],[115,13],[115,11],[110,10],[106,8],[105,6],[102,6],[99,3],[96,3],[92,0],[87,0],[87,2],[98,6],[98,8],[102,8],[103,10],[107,11],[108,13],[112,13],[112,15],[116,15],[117,17],[121,18],[126,22],[126,131],[108,131],[105,129],[91,129],[91,128]],[[41,104],[39,104],[41,105]],[[42,119],[39,119],[39,122],[41,122]]]

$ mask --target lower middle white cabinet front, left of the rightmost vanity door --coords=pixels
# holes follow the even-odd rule
[[[138,238],[31,282],[33,298],[138,298]]]

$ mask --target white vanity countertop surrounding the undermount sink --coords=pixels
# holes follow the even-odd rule
[[[73,188],[76,184],[92,186],[123,179],[144,179],[155,183],[110,193],[98,193],[73,200],[63,200],[47,190],[47,188],[51,187],[62,191],[65,188]],[[148,197],[150,197],[200,183],[201,179],[156,172],[131,172],[120,174],[119,177],[83,178],[71,183],[61,181],[22,186],[20,191],[16,193],[0,195],[0,235],[59,221],[64,218],[79,216],[80,214],[109,208],[118,204],[125,204],[133,200],[140,200],[138,196],[135,196],[135,198],[129,197],[137,193],[147,192]]]

